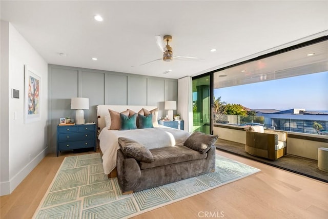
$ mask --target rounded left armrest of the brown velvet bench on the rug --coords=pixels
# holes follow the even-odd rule
[[[134,158],[124,155],[121,149],[117,150],[116,168],[117,180],[122,192],[128,192],[137,187],[141,177],[139,164]]]

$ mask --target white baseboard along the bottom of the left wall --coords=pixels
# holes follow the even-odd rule
[[[48,154],[48,147],[37,154],[31,162],[29,162],[22,170],[20,170],[9,182],[0,183],[0,195],[8,195],[14,191],[14,189],[22,183],[24,178],[42,161],[42,159]]]

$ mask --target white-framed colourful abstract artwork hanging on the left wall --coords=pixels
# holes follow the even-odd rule
[[[40,120],[41,78],[27,65],[24,73],[24,123],[32,123]]]

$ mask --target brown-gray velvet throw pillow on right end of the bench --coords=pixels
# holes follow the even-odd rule
[[[194,132],[187,138],[183,145],[200,153],[206,153],[216,142],[217,138],[217,135]]]

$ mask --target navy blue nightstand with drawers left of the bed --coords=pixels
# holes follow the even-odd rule
[[[96,124],[57,126],[57,156],[61,151],[94,148],[96,151]]]

